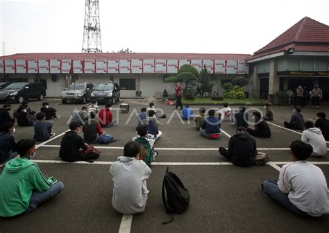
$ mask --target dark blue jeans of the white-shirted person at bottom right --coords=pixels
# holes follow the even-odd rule
[[[289,212],[299,216],[309,216],[305,212],[301,211],[301,209],[295,207],[292,202],[290,202],[288,193],[282,193],[282,191],[280,191],[278,182],[276,182],[276,180],[265,180],[263,182],[263,189],[265,193],[269,194],[269,196],[276,200],[276,202],[279,202],[281,205],[283,205],[286,209],[289,210]]]

